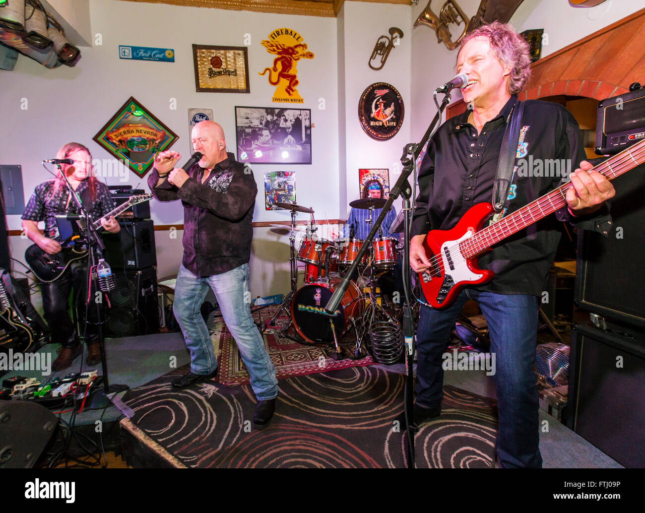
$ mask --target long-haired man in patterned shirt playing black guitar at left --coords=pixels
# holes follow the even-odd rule
[[[78,194],[92,219],[108,214],[114,208],[108,186],[92,176],[92,156],[90,150],[79,143],[68,143],[58,152],[58,159],[72,159],[72,164],[61,164],[61,170],[70,181],[75,194]],[[43,251],[56,254],[61,251],[61,237],[56,225],[57,215],[78,214],[78,207],[70,194],[70,190],[60,175],[36,186],[30,197],[25,212],[23,212],[23,230]],[[45,221],[45,232],[38,228],[39,221]],[[114,217],[102,219],[101,225],[113,234],[121,230]],[[51,283],[41,283],[43,294],[43,310],[45,320],[52,330],[52,342],[60,343],[61,350],[52,363],[52,370],[57,371],[72,365],[74,358],[81,352],[79,334],[67,311],[70,293],[74,290],[74,305],[77,317],[84,319],[86,307],[87,285],[86,259],[72,262],[61,277]],[[87,323],[85,341],[87,343],[88,365],[101,362],[97,327],[92,323],[94,308],[89,309],[90,318]]]

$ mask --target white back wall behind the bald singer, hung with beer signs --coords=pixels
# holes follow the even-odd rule
[[[297,202],[311,206],[317,218],[337,218],[339,203],[339,118],[337,79],[337,34],[333,18],[238,12],[212,8],[153,5],[116,0],[90,0],[92,43],[100,34],[102,45],[83,47],[83,57],[74,68],[61,66],[46,70],[26,57],[19,57],[13,72],[2,74],[0,112],[0,162],[23,166],[25,201],[35,185],[50,175],[40,165],[42,159],[55,157],[64,143],[79,141],[87,145],[95,159],[111,159],[92,136],[110,119],[130,96],[134,96],[180,137],[174,150],[188,157],[189,107],[212,108],[235,151],[235,105],[283,106],[272,104],[275,86],[258,72],[273,62],[261,45],[272,30],[293,28],[303,35],[311,60],[297,63],[297,89],[304,98],[303,108],[312,110],[312,165],[253,165],[259,194],[254,221],[286,221],[286,211],[264,210],[264,170],[295,170]],[[248,46],[250,94],[195,92],[192,44]],[[119,59],[119,45],[174,48],[175,63],[155,63]],[[27,110],[21,109],[22,99]],[[176,99],[177,109],[170,101]],[[325,108],[319,110],[319,98]],[[10,123],[8,122],[10,120]],[[125,183],[147,189],[146,180],[129,173]],[[119,185],[118,177],[106,178],[108,185]],[[344,183],[342,184],[344,188]],[[343,207],[344,211],[344,207]],[[156,224],[183,223],[181,203],[151,203]],[[19,229],[20,216],[8,216],[8,229]],[[299,219],[304,219],[301,214]],[[157,232],[158,275],[174,274],[181,258],[181,232],[170,239],[168,232]],[[253,295],[284,292],[288,237],[258,229],[253,243]],[[22,259],[28,241],[11,237],[12,256]],[[286,254],[286,257],[285,257]],[[273,275],[276,274],[274,277]],[[288,274],[288,273],[287,273]],[[257,279],[256,279],[257,278]]]

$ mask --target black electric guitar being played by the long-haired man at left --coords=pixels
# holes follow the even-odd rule
[[[150,201],[152,199],[152,194],[139,194],[139,196],[131,196],[128,201],[117,206],[112,212],[108,212],[100,219],[92,222],[92,227],[95,230],[101,228],[101,219],[107,219],[110,216],[118,216],[124,210],[127,210],[133,205],[138,203],[143,203],[144,201]],[[74,260],[78,260],[87,255],[87,250],[84,248],[79,248],[75,245],[65,245],[68,241],[63,243],[63,249],[50,255],[45,251],[41,250],[36,244],[32,244],[25,251],[25,260],[27,265],[30,267],[34,274],[40,279],[40,281],[45,281],[46,283],[51,283],[61,277],[65,269],[72,263]]]

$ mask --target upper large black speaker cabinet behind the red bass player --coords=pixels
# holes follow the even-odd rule
[[[645,330],[645,165],[612,181],[608,237],[581,230],[578,236],[575,301],[609,321]]]

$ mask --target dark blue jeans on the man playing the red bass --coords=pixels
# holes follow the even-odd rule
[[[505,296],[466,288],[445,310],[421,307],[417,330],[417,404],[436,407],[443,397],[442,354],[464,303],[479,303],[495,353],[493,382],[499,427],[497,456],[502,467],[542,467],[539,449],[539,397],[533,372],[539,299]]]

